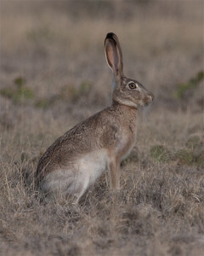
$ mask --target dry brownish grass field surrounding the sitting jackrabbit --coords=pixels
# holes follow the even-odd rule
[[[0,5],[0,253],[201,255],[203,82],[173,95],[204,69],[202,1]],[[105,174],[78,207],[36,195],[40,154],[111,102],[103,51],[111,31],[127,75],[156,95],[150,114],[139,114],[122,189],[113,194]],[[163,152],[152,154],[156,146]]]

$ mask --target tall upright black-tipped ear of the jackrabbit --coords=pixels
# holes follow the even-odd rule
[[[108,33],[105,38],[105,56],[115,77],[122,76],[122,49],[114,33]]]

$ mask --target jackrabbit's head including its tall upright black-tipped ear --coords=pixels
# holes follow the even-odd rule
[[[123,75],[122,49],[114,33],[105,38],[105,56],[114,75],[112,100],[133,108],[146,106],[153,102],[154,95],[142,84]]]

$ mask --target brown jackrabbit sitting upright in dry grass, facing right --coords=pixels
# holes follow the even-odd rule
[[[113,73],[111,107],[67,131],[42,155],[36,183],[45,193],[60,191],[77,202],[105,170],[111,189],[120,188],[120,164],[135,143],[138,108],[154,96],[123,75],[122,49],[112,32],[105,38],[105,56]]]

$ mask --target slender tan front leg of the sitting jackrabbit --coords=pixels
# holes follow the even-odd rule
[[[116,163],[116,160],[111,160],[109,163],[111,189],[120,189],[120,174],[120,164]]]

